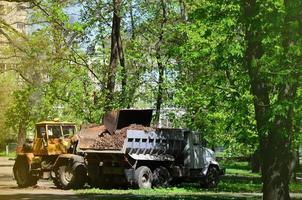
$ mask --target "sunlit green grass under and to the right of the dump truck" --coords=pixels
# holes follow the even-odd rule
[[[257,193],[261,193],[261,176],[252,173],[247,162],[221,163],[226,168],[226,175],[214,189],[202,189],[198,184],[182,184],[178,187],[152,190],[92,188],[78,190],[77,193],[88,197],[91,195],[92,199],[261,199],[257,196]],[[290,190],[293,193],[302,192],[302,183],[291,183]]]

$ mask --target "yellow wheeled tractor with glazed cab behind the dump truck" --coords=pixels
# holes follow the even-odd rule
[[[52,178],[58,188],[79,188],[86,182],[84,157],[74,152],[72,137],[75,123],[43,121],[36,124],[32,142],[18,146],[13,166],[19,187],[37,184],[39,179]]]

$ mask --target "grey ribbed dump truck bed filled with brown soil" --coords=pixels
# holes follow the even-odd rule
[[[130,125],[113,135],[92,131],[87,133],[90,135],[89,140],[82,135],[79,136],[78,143],[79,150],[85,153],[128,154],[136,160],[173,161],[184,148],[182,129],[155,130],[141,125]],[[92,135],[94,141],[90,140],[93,138]],[[87,141],[90,145],[87,145]]]

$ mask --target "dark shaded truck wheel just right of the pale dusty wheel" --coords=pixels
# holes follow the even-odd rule
[[[167,187],[171,180],[170,172],[165,167],[158,167],[153,171],[153,186],[154,187]]]

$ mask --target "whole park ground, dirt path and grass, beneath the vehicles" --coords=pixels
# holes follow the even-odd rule
[[[215,189],[201,189],[198,184],[183,184],[178,187],[152,190],[136,189],[94,189],[58,190],[50,180],[41,180],[30,188],[18,188],[13,179],[14,160],[0,157],[0,199],[13,200],[61,200],[61,199],[261,199],[261,179],[251,173],[247,162],[224,162],[226,175]],[[302,182],[290,185],[292,199],[302,199]]]

